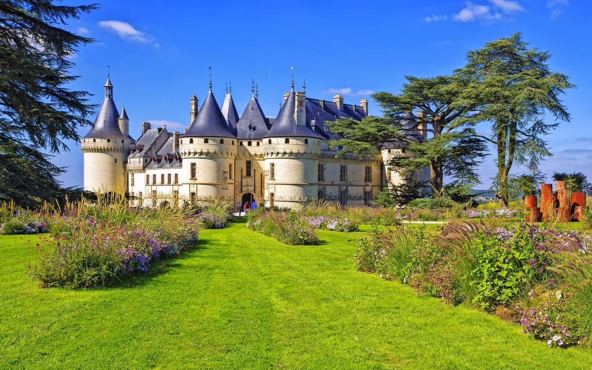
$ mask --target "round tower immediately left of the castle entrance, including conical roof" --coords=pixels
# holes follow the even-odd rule
[[[233,200],[234,185],[229,180],[233,178],[236,144],[210,84],[197,117],[179,139],[183,179],[189,185],[191,201],[214,196]]]

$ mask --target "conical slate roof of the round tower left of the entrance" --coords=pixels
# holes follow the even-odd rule
[[[234,137],[234,134],[226,126],[226,119],[220,111],[211,89],[197,117],[182,135],[182,137],[188,136]]]

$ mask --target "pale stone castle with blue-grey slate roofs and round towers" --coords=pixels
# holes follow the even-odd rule
[[[355,105],[344,104],[340,94],[332,102],[307,98],[305,91],[294,91],[292,79],[276,118],[263,114],[254,89],[239,117],[231,91],[220,109],[210,80],[199,110],[197,97],[191,97],[190,125],[184,133],[144,122],[141,136],[134,140],[126,108],[119,114],[107,76],[105,100],[94,126],[81,139],[84,188],[127,189],[137,206],[165,198],[195,202],[211,196],[234,204],[256,201],[293,209],[314,198],[369,204],[378,191],[400,181],[386,165],[400,149],[385,145],[375,157],[338,157],[340,147],[330,148],[329,141],[341,138],[324,124],[339,117],[359,121],[367,116],[366,99]]]

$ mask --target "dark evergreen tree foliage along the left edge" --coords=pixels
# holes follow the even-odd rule
[[[0,201],[34,207],[75,189],[62,189],[64,172],[46,152],[67,150],[91,124],[88,92],[70,91],[68,59],[93,42],[60,28],[97,6],[56,5],[43,0],[0,0]]]

